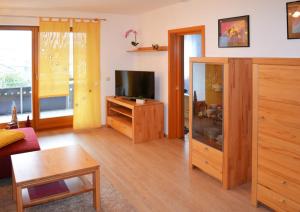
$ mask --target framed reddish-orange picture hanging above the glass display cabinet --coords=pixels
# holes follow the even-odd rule
[[[219,19],[219,48],[249,47],[249,15]]]

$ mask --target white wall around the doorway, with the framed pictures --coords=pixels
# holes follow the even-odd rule
[[[300,57],[300,40],[287,40],[286,0],[190,0],[141,14],[139,39],[144,46],[167,45],[168,30],[205,25],[208,57]],[[218,19],[250,15],[250,47],[218,48]],[[165,103],[167,132],[168,54],[143,53],[135,68],[155,70],[157,98]]]

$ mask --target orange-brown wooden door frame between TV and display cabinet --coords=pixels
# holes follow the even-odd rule
[[[202,57],[205,56],[205,26],[193,26],[168,31],[168,138],[183,138],[183,38],[201,34]]]

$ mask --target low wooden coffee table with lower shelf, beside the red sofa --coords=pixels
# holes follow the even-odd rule
[[[13,198],[17,211],[26,207],[93,191],[93,204],[100,211],[100,166],[80,146],[16,154],[13,167]],[[93,183],[84,175],[92,175]],[[28,188],[64,180],[67,192],[30,199]]]

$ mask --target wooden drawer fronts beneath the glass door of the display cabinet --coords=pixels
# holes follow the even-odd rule
[[[222,182],[223,153],[197,141],[192,141],[192,164]]]

